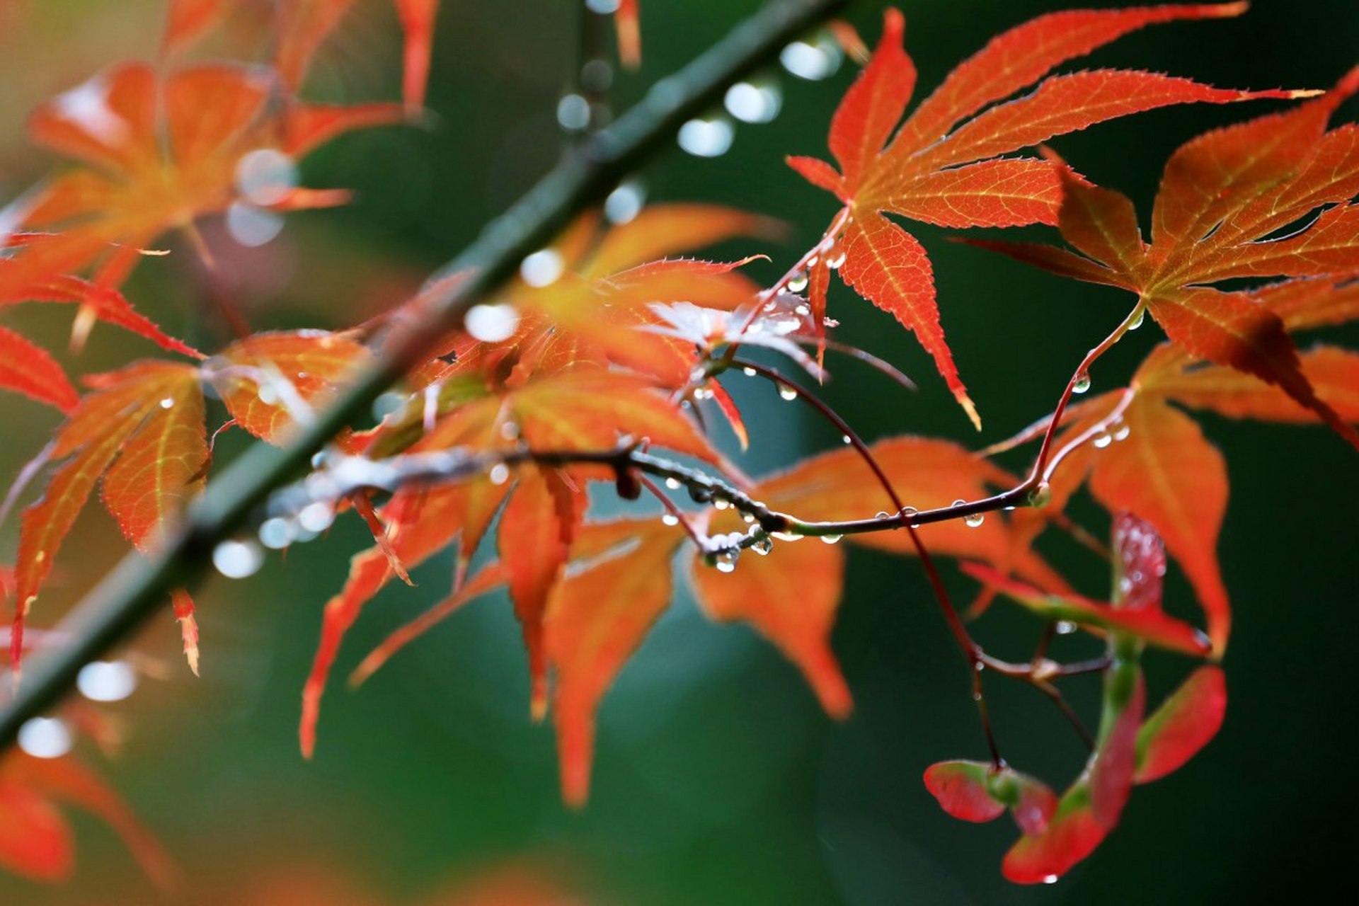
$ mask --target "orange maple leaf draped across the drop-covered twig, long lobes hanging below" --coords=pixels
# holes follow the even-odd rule
[[[459,450],[474,455],[508,451],[519,444],[553,452],[606,451],[631,436],[708,462],[724,462],[689,416],[658,394],[651,380],[637,375],[583,367],[534,378],[518,387],[496,387],[467,375],[443,390],[450,405],[432,428],[424,429],[424,403],[417,401],[409,414],[389,420],[368,439],[370,455],[393,450],[410,454]],[[412,441],[413,429],[423,433]],[[397,440],[389,441],[393,436]],[[321,642],[303,689],[299,738],[304,754],[310,755],[315,747],[321,695],[344,634],[367,602],[397,575],[389,553],[413,568],[457,539],[462,576],[501,504],[506,509],[497,537],[530,657],[530,709],[534,714],[544,713],[544,609],[584,512],[586,481],[612,474],[586,466],[560,471],[500,469],[503,474],[492,470],[448,488],[402,489],[383,508],[389,550],[376,546],[356,556],[344,590],[326,603]],[[511,484],[511,478],[518,481]],[[538,541],[525,543],[530,537]]]

